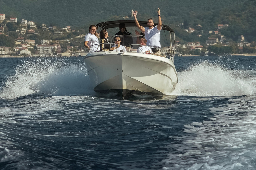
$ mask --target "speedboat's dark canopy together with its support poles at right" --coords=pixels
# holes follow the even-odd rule
[[[147,21],[138,21],[139,24],[142,26],[142,27],[148,27],[148,22]],[[109,29],[109,28],[118,28],[119,24],[120,23],[125,23],[125,26],[126,27],[137,27],[136,23],[135,23],[135,20],[115,20],[115,21],[105,21],[105,22],[101,22],[101,23],[98,23],[96,26],[101,29],[98,29],[98,33],[103,30],[103,29]],[[155,23],[154,26],[158,25],[158,23]],[[172,61],[174,60],[174,47],[175,47],[175,32],[173,29],[171,29],[171,27],[169,27],[168,25],[164,25],[162,24],[162,29],[164,31],[169,31],[169,34],[170,34],[170,46],[172,47],[172,33],[173,33],[173,36],[174,36],[174,44],[173,44],[173,48],[169,49],[170,51],[170,54],[171,54],[171,58],[172,58]],[[165,33],[165,32],[164,32]],[[166,35],[165,35],[166,37]]]

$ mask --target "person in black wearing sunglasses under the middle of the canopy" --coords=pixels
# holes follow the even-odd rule
[[[132,41],[132,34],[129,33],[127,30],[126,30],[126,27],[125,27],[125,23],[120,23],[119,24],[119,32],[117,32],[115,34],[115,36],[121,36],[122,38],[122,42],[121,42],[121,45],[124,45],[124,46],[130,46],[133,41]],[[122,36],[123,35],[123,36]]]

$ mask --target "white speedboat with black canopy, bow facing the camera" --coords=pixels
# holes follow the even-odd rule
[[[99,23],[98,30],[100,31],[99,27],[118,28],[121,22],[125,23],[126,28],[136,27],[135,21],[119,20]],[[147,27],[147,22],[139,21],[139,23]],[[169,26],[162,27],[162,30],[169,32],[170,42],[172,38],[175,42],[174,31]],[[110,33],[111,30],[108,32]],[[162,96],[174,90],[178,82],[173,63],[174,45],[168,50],[161,49],[162,56],[141,54],[136,52],[136,48],[139,47],[138,44],[136,45],[138,36],[132,35],[132,37],[133,44],[126,46],[127,52],[97,51],[85,56],[84,62],[94,91],[116,93],[123,99],[128,99],[138,95]]]

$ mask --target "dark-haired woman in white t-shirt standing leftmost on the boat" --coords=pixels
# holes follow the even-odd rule
[[[89,33],[85,35],[84,38],[84,46],[88,48],[90,52],[95,52],[97,51],[97,45],[99,43],[98,39],[98,34],[97,34],[97,26],[96,25],[90,25],[89,27]],[[93,45],[93,46],[92,46]]]

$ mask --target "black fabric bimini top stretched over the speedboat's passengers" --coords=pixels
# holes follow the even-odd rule
[[[134,20],[116,20],[116,21],[106,21],[106,22],[101,22],[97,24],[97,27],[100,27],[102,29],[108,29],[108,28],[117,28],[120,23],[125,23],[126,27],[137,27],[136,23]],[[142,27],[148,27],[148,22],[147,21],[139,21],[139,24]],[[155,25],[158,25],[158,23],[155,23]],[[154,25],[154,26],[155,26]],[[162,24],[163,30],[171,31],[174,32],[171,27],[168,25]]]

